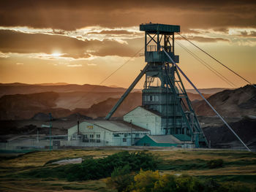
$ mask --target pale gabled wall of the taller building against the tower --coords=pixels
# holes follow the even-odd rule
[[[161,128],[161,118],[153,112],[143,109],[143,107],[136,107],[128,112],[124,115],[124,121],[147,128],[151,135],[165,134]]]

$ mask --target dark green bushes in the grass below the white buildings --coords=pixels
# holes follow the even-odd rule
[[[129,153],[127,151],[109,155],[106,158],[88,158],[82,164],[68,164],[65,166],[43,167],[16,175],[16,177],[36,177],[75,180],[98,180],[110,177],[114,169],[129,166],[130,171],[157,169],[157,158],[151,153]]]

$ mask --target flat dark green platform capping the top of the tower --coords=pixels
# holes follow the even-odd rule
[[[160,34],[168,34],[173,32],[180,32],[180,26],[165,25],[159,23],[145,23],[140,24],[140,31],[147,31],[153,34],[159,31]]]

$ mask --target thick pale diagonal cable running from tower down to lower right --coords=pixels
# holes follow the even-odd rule
[[[185,79],[189,82],[190,85],[192,85],[193,88],[195,88],[195,91],[197,91],[197,93],[200,94],[200,96],[203,98],[203,100],[206,101],[206,103],[208,104],[209,107],[211,107],[211,110],[213,110],[217,115],[218,117],[223,121],[223,123],[225,123],[225,125],[227,126],[227,128],[230,129],[230,131],[232,131],[232,133],[239,139],[239,141],[244,145],[244,147],[246,147],[246,149],[248,151],[251,151],[249,149],[249,147],[247,147],[245,145],[245,143],[242,141],[242,139],[240,139],[240,137],[238,137],[238,135],[236,134],[235,131],[233,131],[233,129],[227,124],[227,122],[224,120],[224,118],[222,118],[221,115],[219,115],[219,112],[217,112],[217,110],[214,109],[214,107],[209,103],[209,101],[203,96],[202,93],[200,93],[200,91],[195,87],[195,85],[191,82],[191,80],[189,80],[189,77],[187,77],[186,74],[184,74],[184,72],[181,70],[181,68],[173,61],[173,58],[170,57],[170,55],[168,55],[168,53],[165,51],[165,49],[162,47],[163,51],[165,52],[165,54],[167,55],[168,58],[170,58],[170,61],[173,63],[173,65],[175,65],[178,69],[179,72],[181,72],[181,74],[185,77]]]

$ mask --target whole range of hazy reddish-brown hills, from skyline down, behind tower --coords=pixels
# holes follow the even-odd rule
[[[100,107],[110,110],[125,91],[124,88],[109,88],[98,85],[20,85],[19,83],[0,85],[0,89],[5,91],[1,92],[2,94],[12,93],[0,97],[0,120],[30,119],[40,112],[46,112],[47,114],[52,112],[54,117],[61,118],[70,115],[75,109],[86,111],[87,113],[83,113],[84,115],[89,114],[89,117],[97,118],[105,114],[102,113]],[[53,90],[54,92],[26,93],[44,90]],[[20,94],[19,92],[25,93]],[[130,94],[128,98],[133,95],[132,93]],[[201,99],[198,94],[188,93],[188,95],[192,101]],[[204,96],[207,98],[210,95]],[[108,102],[111,103],[111,107],[105,108],[104,105]],[[129,102],[124,101],[123,112],[118,110],[115,115],[121,116],[138,105],[141,105],[140,91]],[[90,109],[90,107],[92,108]],[[97,112],[97,110],[99,111]],[[77,111],[75,110],[75,112]],[[40,119],[43,116],[39,114],[34,118]]]

